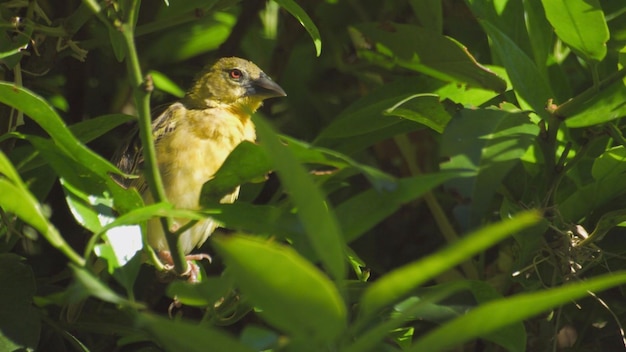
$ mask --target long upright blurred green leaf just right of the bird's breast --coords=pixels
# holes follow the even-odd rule
[[[332,208],[321,191],[265,120],[255,117],[261,144],[272,160],[280,181],[293,201],[309,244],[335,279],[346,274],[343,236]]]

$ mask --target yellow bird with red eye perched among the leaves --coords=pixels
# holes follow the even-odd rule
[[[251,115],[265,99],[286,95],[251,61],[225,57],[206,66],[185,96],[152,123],[156,160],[167,200],[176,208],[199,209],[204,183],[213,178],[239,143],[256,140]],[[143,153],[138,138],[121,148],[114,160],[124,173],[138,174],[137,178],[118,183],[136,188],[145,204],[153,203],[145,178],[140,174]],[[238,194],[239,187],[220,202],[232,203]],[[187,222],[174,219],[174,227],[180,228]],[[202,246],[217,227],[213,219],[206,218],[186,229],[178,242],[185,255]],[[149,245],[162,261],[171,262],[165,235],[158,219],[148,221]]]

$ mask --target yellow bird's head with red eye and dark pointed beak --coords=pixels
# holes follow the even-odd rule
[[[229,105],[254,112],[264,99],[286,95],[254,63],[225,57],[203,71],[187,93],[186,101],[194,107]]]

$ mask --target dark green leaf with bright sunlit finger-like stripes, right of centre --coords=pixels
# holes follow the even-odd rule
[[[475,175],[446,185],[464,199],[455,210],[464,228],[480,224],[502,180],[538,133],[525,113],[496,108],[463,109],[450,121],[441,142],[441,155],[448,161],[441,169]]]

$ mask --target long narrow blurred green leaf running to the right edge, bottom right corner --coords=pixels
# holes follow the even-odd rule
[[[589,292],[606,290],[624,283],[625,272],[612,272],[559,288],[491,301],[428,333],[408,351],[447,351],[481,335],[585,297]]]

